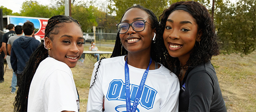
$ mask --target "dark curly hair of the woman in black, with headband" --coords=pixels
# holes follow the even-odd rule
[[[186,5],[188,10],[191,12],[191,16],[196,20],[198,25],[198,31],[201,30],[203,35],[201,36],[201,41],[196,42],[194,46],[194,51],[190,54],[190,57],[187,61],[186,67],[196,67],[197,65],[201,65],[211,61],[212,56],[219,55],[219,48],[216,41],[216,33],[215,33],[215,25],[213,23],[213,19],[208,12],[208,10],[201,4],[193,1],[186,2],[177,2],[172,4],[168,9],[164,10],[163,14],[160,18],[160,35],[163,35],[165,24],[168,16],[171,14],[172,10],[174,10],[179,5]],[[166,47],[164,46],[163,38],[159,39],[156,42],[157,46],[159,46],[159,50],[162,52],[167,52]],[[170,55],[165,55],[165,60],[162,60],[161,63],[174,72],[176,75],[180,76],[180,61],[178,58],[173,58]]]

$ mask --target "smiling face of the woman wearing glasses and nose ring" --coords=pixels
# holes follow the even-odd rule
[[[152,29],[152,26],[150,25],[151,21],[148,19],[147,12],[139,8],[132,8],[125,12],[122,22],[131,24],[136,20],[146,20],[149,24],[146,22],[145,29],[140,32],[134,31],[130,26],[126,33],[119,34],[121,42],[124,48],[130,53],[150,52],[155,29]]]

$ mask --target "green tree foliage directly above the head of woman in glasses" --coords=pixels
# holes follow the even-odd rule
[[[168,7],[168,1],[166,0],[109,0],[109,2],[110,4],[108,5],[108,8],[110,12],[116,12],[116,20],[119,21],[125,10],[136,4],[151,10],[156,14],[156,17],[159,17],[164,9]]]

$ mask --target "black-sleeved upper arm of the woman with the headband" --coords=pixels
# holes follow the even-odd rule
[[[213,78],[207,71],[197,72],[188,77],[188,111],[209,112],[214,94]]]

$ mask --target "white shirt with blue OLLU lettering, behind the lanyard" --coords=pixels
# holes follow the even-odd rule
[[[95,63],[91,84],[99,65],[98,62]],[[108,58],[100,62],[95,83],[89,91],[87,111],[92,109],[102,111],[103,96],[105,99],[104,112],[126,111],[124,64],[124,56]],[[133,105],[146,69],[135,68],[130,65],[128,67],[131,105]],[[178,111],[179,92],[179,79],[174,73],[163,65],[158,69],[149,70],[136,112]]]

